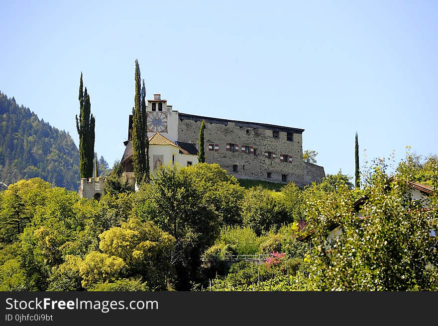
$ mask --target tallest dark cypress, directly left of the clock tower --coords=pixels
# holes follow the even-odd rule
[[[134,109],[132,117],[132,163],[137,184],[149,181],[149,164],[146,159],[146,88],[141,87],[140,83],[140,66],[138,60],[135,59],[135,95]],[[144,105],[143,103],[144,102]],[[147,166],[146,166],[147,165]]]

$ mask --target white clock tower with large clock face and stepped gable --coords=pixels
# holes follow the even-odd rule
[[[158,132],[171,141],[178,140],[178,111],[173,111],[161,94],[147,100],[146,121],[148,137]]]

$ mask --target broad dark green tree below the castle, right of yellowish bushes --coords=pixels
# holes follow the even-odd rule
[[[176,240],[172,263],[178,290],[189,290],[190,282],[199,279],[201,254],[214,243],[221,225],[202,187],[208,182],[200,182],[191,171],[190,166],[162,166],[152,183],[134,195],[137,216],[152,220]]]

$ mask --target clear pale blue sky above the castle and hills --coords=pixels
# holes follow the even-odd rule
[[[437,1],[1,1],[0,90],[78,145],[123,154],[138,59],[174,110],[303,128],[326,174],[438,154]],[[365,157],[366,153],[366,157]]]

